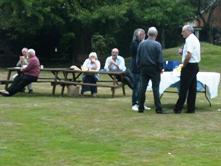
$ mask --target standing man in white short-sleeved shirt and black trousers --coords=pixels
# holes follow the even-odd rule
[[[199,71],[200,62],[200,42],[193,34],[193,27],[184,25],[182,36],[185,38],[185,45],[182,51],[183,67],[180,76],[179,98],[174,107],[174,113],[181,113],[187,98],[187,113],[195,113],[196,102],[196,75]]]

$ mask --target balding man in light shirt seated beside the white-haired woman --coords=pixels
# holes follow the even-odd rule
[[[104,69],[106,71],[126,71],[124,58],[118,54],[119,50],[117,48],[113,48],[111,51],[111,56],[107,57],[105,62]],[[133,81],[129,71],[126,71],[123,80],[121,80],[120,76],[116,78],[133,89]]]

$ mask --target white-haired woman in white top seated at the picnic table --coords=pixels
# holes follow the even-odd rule
[[[94,70],[99,71],[100,70],[100,61],[97,58],[96,52],[91,52],[89,54],[89,58],[87,58],[83,65],[82,70]],[[83,75],[83,83],[93,83],[96,84],[98,80],[98,75],[96,74],[84,74]],[[92,96],[96,96],[97,94],[97,87],[96,86],[86,86],[82,85],[81,88],[81,94],[83,95],[84,92],[91,91]]]

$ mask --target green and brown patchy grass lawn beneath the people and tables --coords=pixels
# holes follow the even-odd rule
[[[202,47],[201,69],[221,72],[221,47]],[[165,50],[165,59],[176,56],[176,48]],[[32,95],[0,96],[0,166],[221,165],[220,90],[212,107],[198,94],[195,114],[159,115],[150,92],[152,109],[138,114],[131,111],[129,88],[126,96],[117,89],[115,98],[99,88],[92,98],[61,97],[59,89],[52,96],[46,83],[33,87]],[[164,109],[171,112],[176,100],[165,93]]]

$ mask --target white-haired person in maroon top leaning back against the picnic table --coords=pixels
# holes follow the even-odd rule
[[[37,81],[40,74],[40,62],[35,55],[34,49],[28,50],[28,65],[21,68],[21,74],[15,77],[11,86],[4,91],[0,91],[2,96],[12,96],[24,89],[31,82]]]

